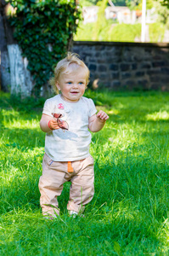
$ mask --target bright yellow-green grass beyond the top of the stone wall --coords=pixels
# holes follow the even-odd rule
[[[82,24],[77,28],[75,41],[95,41],[95,31],[99,35],[96,41],[110,41],[110,42],[135,42],[136,38],[141,37],[141,24],[118,24],[111,20],[105,20],[104,25],[99,32],[99,27],[95,23]],[[162,23],[149,24],[149,42],[157,43],[163,42],[165,33],[165,26]]]

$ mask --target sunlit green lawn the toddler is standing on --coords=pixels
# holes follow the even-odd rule
[[[42,218],[37,187],[44,100],[25,104],[1,94],[0,255],[169,255],[169,94],[86,96],[110,115],[93,133],[95,195],[85,218],[70,218],[66,183],[60,217],[51,221]]]

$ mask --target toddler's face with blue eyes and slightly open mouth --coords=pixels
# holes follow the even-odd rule
[[[60,75],[57,88],[67,102],[78,102],[87,87],[87,73],[83,67],[70,64],[66,73]]]

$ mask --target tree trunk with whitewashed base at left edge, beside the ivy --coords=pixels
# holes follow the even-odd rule
[[[1,88],[11,94],[22,97],[31,96],[33,80],[27,70],[28,61],[21,55],[21,49],[13,37],[13,28],[9,26],[7,9],[9,4],[0,0],[1,20]]]

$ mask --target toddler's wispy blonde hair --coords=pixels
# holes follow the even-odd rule
[[[49,84],[53,86],[56,93],[59,93],[56,84],[59,82],[60,76],[62,74],[69,73],[67,69],[70,67],[70,64],[76,64],[77,66],[84,68],[87,74],[87,84],[89,83],[90,72],[86,64],[80,60],[79,55],[76,53],[68,52],[65,59],[58,62],[57,66],[54,68],[54,77],[49,80]]]

